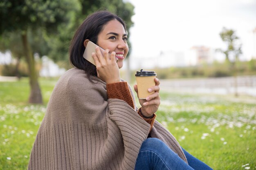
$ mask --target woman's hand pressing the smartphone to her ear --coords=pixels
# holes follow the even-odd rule
[[[104,51],[104,56],[99,49],[96,47],[96,53],[92,53],[93,60],[96,64],[97,76],[107,84],[120,82],[120,72],[115,60],[115,51],[109,56],[109,49]]]

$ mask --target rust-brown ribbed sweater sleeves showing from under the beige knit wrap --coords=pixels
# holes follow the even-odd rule
[[[121,99],[128,103],[132,108],[134,108],[134,103],[132,101],[132,95],[129,91],[127,82],[116,82],[107,84],[107,94],[108,99]],[[150,124],[150,130],[153,127],[156,115],[150,119],[143,117],[141,114],[141,109],[138,110],[138,114],[148,123]]]

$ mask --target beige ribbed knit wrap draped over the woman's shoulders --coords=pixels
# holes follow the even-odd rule
[[[108,99],[105,82],[97,77],[92,81],[78,68],[59,79],[31,151],[29,170],[134,170],[150,125],[123,100]],[[132,97],[135,101],[133,93]],[[176,139],[159,122],[150,136],[186,161]]]

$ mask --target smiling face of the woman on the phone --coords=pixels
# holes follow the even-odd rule
[[[117,65],[119,68],[123,66],[124,59],[129,51],[127,42],[127,34],[124,26],[118,20],[111,20],[98,35],[97,44],[103,49],[109,49],[116,52],[118,58]]]

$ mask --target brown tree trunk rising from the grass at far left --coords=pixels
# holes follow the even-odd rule
[[[42,104],[42,94],[40,90],[40,86],[38,84],[38,75],[36,73],[35,59],[31,50],[31,46],[27,40],[27,31],[24,31],[21,35],[22,44],[25,53],[25,57],[27,60],[27,65],[29,69],[29,84],[30,84],[30,95],[29,95],[29,103],[33,104]]]

